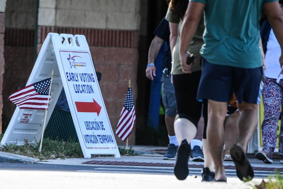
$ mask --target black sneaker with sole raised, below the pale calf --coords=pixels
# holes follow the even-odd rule
[[[183,140],[179,146],[174,174],[179,180],[185,180],[189,174],[188,160],[190,157],[191,146],[187,140]]]

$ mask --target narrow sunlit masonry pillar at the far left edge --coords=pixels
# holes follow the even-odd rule
[[[0,0],[0,133],[2,133],[2,109],[3,109],[3,74],[4,74],[4,32],[5,32],[5,7],[6,0]]]

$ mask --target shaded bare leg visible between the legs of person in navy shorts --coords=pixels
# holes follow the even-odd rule
[[[237,124],[239,118],[239,112],[234,112],[228,115],[225,120],[224,130],[225,130],[225,153],[230,155],[230,149],[234,145],[237,137]]]

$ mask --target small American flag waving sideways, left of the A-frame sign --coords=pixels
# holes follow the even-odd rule
[[[22,89],[17,90],[9,97],[20,109],[47,110],[49,102],[51,78],[30,84]]]

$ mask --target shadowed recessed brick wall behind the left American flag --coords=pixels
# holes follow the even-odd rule
[[[26,85],[34,65],[36,0],[7,0],[4,11],[4,58],[6,64],[3,63],[5,69],[2,93],[4,111],[1,119],[3,131],[6,130],[16,107],[8,100],[8,97]],[[2,82],[0,82],[0,86],[2,87]],[[0,90],[2,91],[2,89]],[[2,110],[1,107],[0,109]]]

